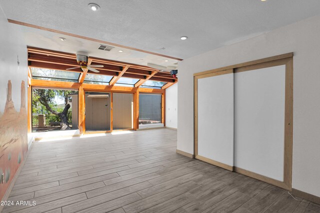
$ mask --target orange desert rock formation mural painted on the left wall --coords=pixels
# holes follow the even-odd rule
[[[20,103],[12,101],[12,86],[21,88]],[[24,81],[21,85],[11,85],[8,80],[6,94],[0,97],[0,101],[5,101],[4,110],[0,112],[0,198],[3,198],[28,149]],[[19,104],[17,112],[14,105]]]

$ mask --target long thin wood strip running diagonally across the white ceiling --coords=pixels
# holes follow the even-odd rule
[[[59,33],[59,34],[63,34],[63,35],[76,37],[76,38],[81,38],[81,39],[85,39],[85,40],[90,40],[90,41],[95,41],[95,42],[99,42],[99,43],[112,45],[112,46],[131,49],[131,50],[135,50],[135,51],[139,51],[139,52],[144,52],[144,53],[147,53],[147,54],[152,54],[152,55],[162,56],[162,57],[166,57],[166,58],[171,58],[171,59],[174,59],[174,60],[179,60],[179,61],[182,60],[181,58],[176,58],[176,57],[163,55],[163,54],[159,54],[159,53],[155,53],[155,52],[150,52],[150,51],[146,51],[146,50],[142,50],[142,49],[138,49],[138,48],[124,46],[124,45],[120,45],[120,44],[116,44],[116,43],[112,43],[112,42],[108,42],[108,41],[103,41],[103,40],[99,40],[99,39],[95,39],[95,38],[90,38],[90,37],[86,37],[86,36],[82,36],[82,35],[77,35],[77,34],[73,34],[73,33],[69,33],[69,32],[64,32],[64,31],[60,31],[60,30],[56,30],[56,29],[42,27],[42,26],[30,24],[30,23],[25,23],[25,22],[22,22],[22,21],[17,21],[17,20],[12,20],[12,19],[7,19],[7,20],[8,20],[9,23],[19,24],[19,25],[22,25],[22,26],[27,26],[27,27],[32,27],[32,28],[41,29],[41,30],[45,30],[45,31],[55,32],[55,33]]]

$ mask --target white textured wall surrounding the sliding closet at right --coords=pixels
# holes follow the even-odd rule
[[[193,153],[193,73],[294,52],[292,188],[320,196],[319,35],[314,16],[179,62],[177,149]]]

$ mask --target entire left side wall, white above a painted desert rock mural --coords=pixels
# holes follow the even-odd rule
[[[0,7],[0,198],[5,195],[28,150],[27,52],[19,26]]]

